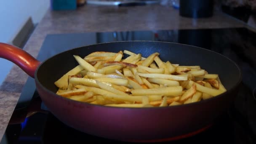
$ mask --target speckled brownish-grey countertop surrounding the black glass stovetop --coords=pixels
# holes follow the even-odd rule
[[[180,17],[177,9],[161,5],[137,7],[85,5],[76,11],[48,10],[24,50],[37,57],[48,34],[227,27],[247,26],[221,12],[215,12],[211,18],[195,20]],[[0,86],[0,141],[27,78],[28,75],[14,65]]]

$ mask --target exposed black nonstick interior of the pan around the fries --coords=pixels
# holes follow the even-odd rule
[[[240,69],[233,61],[213,51],[178,43],[125,41],[88,45],[59,53],[40,65],[36,73],[37,79],[45,88],[55,93],[57,87],[54,82],[78,65],[73,55],[83,58],[95,51],[118,52],[123,50],[141,53],[144,57],[158,52],[160,59],[170,61],[172,64],[200,65],[210,74],[219,74],[227,90],[237,85],[241,78]]]

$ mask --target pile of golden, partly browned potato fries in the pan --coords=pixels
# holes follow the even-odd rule
[[[124,58],[127,54],[127,58]],[[218,74],[200,66],[162,61],[159,53],[97,51],[54,84],[56,94],[75,101],[109,107],[167,107],[210,99],[227,91]]]

